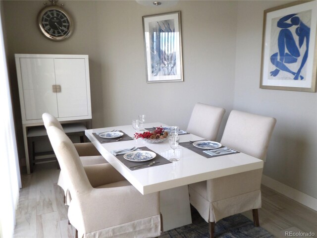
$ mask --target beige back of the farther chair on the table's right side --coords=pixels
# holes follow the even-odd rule
[[[188,122],[187,132],[208,140],[216,140],[224,113],[223,108],[196,103]]]

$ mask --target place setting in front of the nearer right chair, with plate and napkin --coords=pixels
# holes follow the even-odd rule
[[[240,153],[237,150],[233,150],[229,147],[221,145],[219,142],[210,140],[187,141],[181,142],[179,145],[190,149],[206,158]]]

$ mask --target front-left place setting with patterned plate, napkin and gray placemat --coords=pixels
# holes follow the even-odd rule
[[[111,154],[132,171],[171,163],[146,146],[113,150]]]

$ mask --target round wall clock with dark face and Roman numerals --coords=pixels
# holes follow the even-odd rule
[[[44,7],[40,11],[38,24],[44,36],[53,41],[62,41],[71,36],[73,21],[62,7],[56,5],[56,1],[51,2],[52,6]]]

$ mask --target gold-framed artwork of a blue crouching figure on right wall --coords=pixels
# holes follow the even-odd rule
[[[264,10],[260,88],[316,92],[316,27],[316,1]]]

